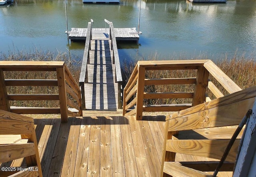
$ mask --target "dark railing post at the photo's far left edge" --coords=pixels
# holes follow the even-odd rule
[[[0,109],[4,111],[10,111],[10,104],[8,100],[8,95],[6,91],[6,85],[4,81],[4,72],[0,69]]]

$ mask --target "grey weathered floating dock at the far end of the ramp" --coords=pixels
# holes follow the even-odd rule
[[[87,28],[71,28],[68,39],[72,42],[85,41]],[[136,28],[114,28],[117,41],[138,41],[140,36]],[[92,28],[92,40],[108,40],[108,28]]]

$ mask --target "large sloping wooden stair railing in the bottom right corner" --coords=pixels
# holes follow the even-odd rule
[[[206,172],[215,170],[236,130],[226,126],[239,125],[248,109],[252,109],[255,96],[256,87],[252,87],[166,117],[161,176],[211,176]],[[242,132],[220,171],[233,171],[241,136]],[[190,155],[190,159],[177,161],[176,153]],[[197,161],[200,158],[211,159]]]

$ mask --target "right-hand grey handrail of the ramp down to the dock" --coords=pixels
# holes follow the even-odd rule
[[[112,22],[104,19],[104,21],[109,24],[109,39],[111,40],[111,50],[113,50],[113,64],[115,64],[115,81],[118,83],[118,109],[122,109],[122,73],[120,60],[118,55],[118,49],[116,44],[116,35],[114,33],[114,26]]]

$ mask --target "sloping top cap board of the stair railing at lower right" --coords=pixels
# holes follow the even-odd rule
[[[249,99],[255,96],[256,96],[256,86],[244,89],[239,92],[232,93],[230,95],[226,95],[224,97],[213,99],[212,101],[209,101],[207,103],[202,103],[200,105],[193,106],[192,108],[185,109],[183,111],[180,111],[179,113],[174,113],[172,114],[171,118],[189,115],[202,110],[206,111],[214,107],[219,107],[219,106],[234,103],[237,101],[242,101],[244,99]]]

